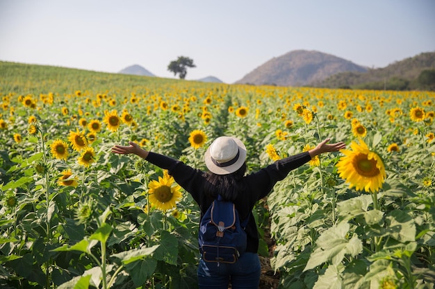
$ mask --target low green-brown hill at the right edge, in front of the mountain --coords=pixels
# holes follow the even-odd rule
[[[315,87],[359,89],[427,89],[418,80],[420,73],[435,69],[435,52],[419,55],[366,72],[342,72],[324,80],[311,82]]]

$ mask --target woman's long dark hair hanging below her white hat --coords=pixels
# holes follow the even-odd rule
[[[204,192],[210,198],[217,198],[221,195],[224,200],[236,200],[239,193],[245,191],[245,186],[241,180],[246,173],[246,163],[244,163],[234,173],[228,175],[216,175],[215,173],[204,173],[208,182],[204,187]]]

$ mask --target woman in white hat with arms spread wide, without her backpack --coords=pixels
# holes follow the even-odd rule
[[[199,288],[227,289],[231,280],[233,289],[258,288],[261,265],[258,259],[258,231],[252,209],[258,200],[272,191],[274,184],[284,179],[291,170],[302,166],[311,158],[323,152],[336,152],[345,148],[345,143],[327,144],[325,139],[308,152],[279,159],[273,164],[246,173],[246,148],[236,137],[218,137],[211,143],[205,154],[205,164],[209,172],[192,168],[181,161],[143,150],[136,143],[130,146],[114,146],[117,154],[134,154],[151,164],[168,170],[175,181],[183,187],[199,204],[202,216],[211,206],[217,195],[231,200],[238,210],[240,220],[249,218],[247,227],[247,249],[238,261],[229,263],[208,263],[199,260],[197,271]]]

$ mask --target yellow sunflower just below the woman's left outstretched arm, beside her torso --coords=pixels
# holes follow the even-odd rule
[[[181,199],[181,186],[174,182],[174,178],[164,174],[158,181],[149,182],[149,202],[151,206],[162,211],[170,210],[177,206]]]

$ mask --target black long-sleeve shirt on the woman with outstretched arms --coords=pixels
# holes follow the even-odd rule
[[[252,216],[252,209],[258,200],[264,198],[273,186],[284,179],[291,170],[306,164],[310,161],[311,157],[308,152],[302,152],[285,159],[279,159],[273,164],[261,168],[256,173],[251,173],[243,177],[245,182],[245,193],[239,193],[234,204],[238,210],[240,220],[244,220],[249,216],[249,221],[245,229],[247,234],[247,249],[246,252],[258,251],[258,229],[254,216]],[[207,179],[204,177],[204,172],[192,168],[182,161],[166,157],[164,155],[157,154],[155,152],[149,152],[147,161],[160,168],[168,171],[175,182],[185,189],[192,198],[199,204],[202,215],[207,211],[208,207],[213,202],[212,198],[209,198],[204,193],[204,184]]]

